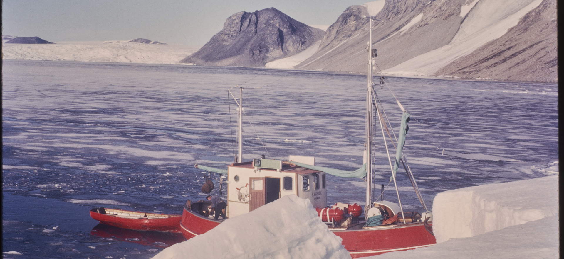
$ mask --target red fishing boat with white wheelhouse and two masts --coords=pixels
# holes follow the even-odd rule
[[[403,154],[403,145],[408,130],[407,122],[409,113],[398,99],[402,111],[399,136],[396,137],[391,123],[384,112],[380,97],[378,97],[373,82],[373,62],[376,57],[376,49],[372,49],[372,20],[370,19],[370,39],[367,48],[369,72],[367,74],[367,97],[366,97],[366,124],[363,165],[355,171],[343,171],[334,168],[315,166],[315,158],[290,155],[288,160],[274,160],[255,158],[249,162],[242,161],[242,113],[243,113],[243,87],[233,87],[240,90],[239,98],[233,99],[239,105],[239,122],[237,123],[237,144],[239,154],[236,155],[235,163],[225,169],[217,169],[196,164],[196,168],[208,172],[222,173],[227,175],[227,217],[234,217],[253,211],[254,209],[270,203],[284,195],[294,194],[303,199],[309,199],[318,211],[321,221],[327,224],[329,230],[342,238],[342,244],[352,258],[374,256],[377,254],[403,251],[426,247],[436,243],[432,229],[432,215],[422,199],[415,177],[407,164]],[[384,78],[380,77],[380,85],[385,84]],[[233,89],[231,88],[231,89]],[[231,92],[231,90],[230,90]],[[394,98],[395,95],[393,95]],[[376,128],[378,130],[376,130]],[[382,135],[375,136],[376,132]],[[381,145],[376,145],[381,142]],[[390,145],[391,144],[391,145]],[[382,162],[381,157],[375,155],[374,150],[380,148],[381,153],[387,153],[387,159]],[[376,171],[375,165],[389,164],[390,182],[395,186],[397,203],[374,199],[373,181],[381,171]],[[421,202],[424,212],[404,211],[399,195],[396,173],[400,166],[406,171],[406,175],[415,190],[417,198]],[[348,177],[363,178],[365,181],[364,209],[358,204],[341,204],[327,206],[327,185],[325,179],[327,174]],[[378,177],[382,178],[382,177]],[[382,184],[382,194],[384,193]],[[380,200],[378,200],[380,199]],[[204,234],[206,231],[221,224],[222,221],[213,220],[206,215],[206,202],[191,203],[188,201],[184,206],[180,227],[185,238],[190,239],[196,235]]]

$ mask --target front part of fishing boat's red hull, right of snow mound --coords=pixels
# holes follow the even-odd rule
[[[424,222],[377,226],[359,230],[332,230],[343,239],[352,258],[427,247],[437,243]]]

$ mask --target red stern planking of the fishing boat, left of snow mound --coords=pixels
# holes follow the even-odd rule
[[[221,221],[212,220],[211,218],[200,215],[198,212],[192,211],[190,206],[189,203],[184,205],[182,220],[180,220],[180,231],[182,231],[184,238],[191,239],[221,224]]]

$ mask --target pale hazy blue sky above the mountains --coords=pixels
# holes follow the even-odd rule
[[[240,11],[274,7],[309,25],[331,25],[371,0],[3,0],[2,34],[50,42],[146,38],[202,46]]]

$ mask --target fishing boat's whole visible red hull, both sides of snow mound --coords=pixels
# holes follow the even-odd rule
[[[219,224],[221,221],[201,216],[192,211],[187,204],[182,212],[180,230],[184,238],[190,239],[208,232]],[[377,226],[370,229],[330,230],[343,239],[342,244],[352,258],[427,247],[437,243],[435,236],[431,234],[431,224],[425,222]]]

